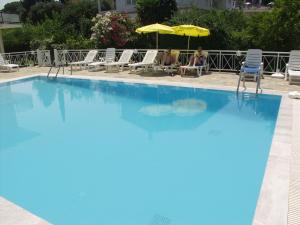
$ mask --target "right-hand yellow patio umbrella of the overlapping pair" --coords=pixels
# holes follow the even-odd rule
[[[179,25],[172,27],[175,35],[188,36],[188,50],[190,49],[191,37],[204,37],[210,35],[208,29],[194,25]]]

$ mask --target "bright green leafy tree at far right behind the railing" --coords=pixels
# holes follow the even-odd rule
[[[279,51],[300,48],[300,1],[277,0],[272,11],[253,16],[247,29],[254,47]]]

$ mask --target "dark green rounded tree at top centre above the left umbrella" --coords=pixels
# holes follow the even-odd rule
[[[177,11],[175,0],[137,0],[137,14],[142,24],[161,23]]]

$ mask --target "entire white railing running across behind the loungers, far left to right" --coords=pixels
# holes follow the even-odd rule
[[[82,50],[54,50],[54,56],[50,56],[50,50],[37,50],[27,52],[4,53],[3,56],[10,63],[21,66],[50,66],[69,64],[70,62],[81,61],[88,53],[88,49]],[[116,50],[116,60],[119,59],[123,49]],[[132,57],[132,62],[139,62],[143,59],[147,49],[136,49]],[[164,49],[160,49],[163,52]],[[179,62],[187,64],[194,50],[180,50]],[[208,50],[208,63],[211,71],[236,72],[240,69],[241,62],[245,59],[246,51],[241,51],[241,56],[237,56],[235,50]],[[105,56],[105,49],[98,49],[96,60]],[[284,72],[289,59],[289,52],[263,52],[264,73],[271,74],[276,71]]]

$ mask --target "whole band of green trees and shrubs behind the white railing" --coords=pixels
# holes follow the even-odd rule
[[[134,30],[144,24],[164,22],[168,25],[194,24],[208,28],[211,35],[191,38],[191,48],[201,45],[205,49],[300,49],[300,1],[297,0],[276,0],[270,11],[252,14],[240,10],[207,11],[197,8],[176,12],[176,2],[171,0],[137,0],[137,9],[137,21],[113,13],[109,25],[103,25],[106,17],[92,21],[98,12],[97,0],[78,3],[23,0],[21,3],[9,3],[4,11],[26,11],[23,13],[26,23],[21,29],[3,32],[5,48],[7,51],[54,46],[92,48],[95,44],[101,48],[152,48],[154,34],[138,35]],[[103,37],[102,31],[105,31]],[[159,39],[161,48],[182,49],[187,46],[186,37],[160,35]]]

